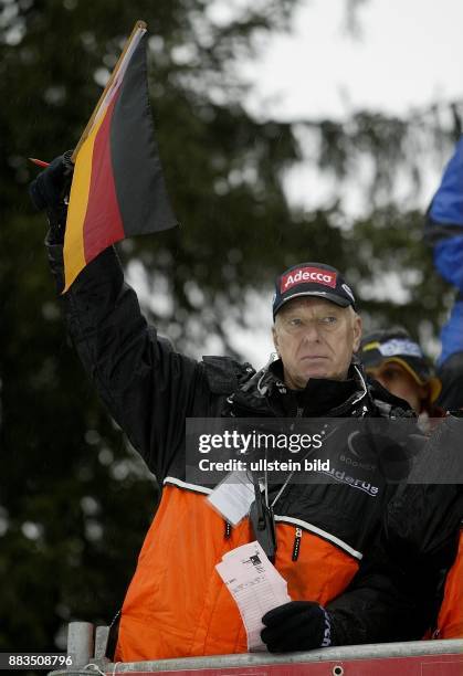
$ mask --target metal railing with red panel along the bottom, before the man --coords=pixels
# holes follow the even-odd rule
[[[248,676],[263,676],[263,674],[299,674],[302,665],[304,674],[369,675],[382,669],[390,661],[390,672],[381,674],[401,676],[402,674],[420,674],[425,657],[427,674],[433,674],[432,663],[439,663],[439,674],[453,676],[463,674],[463,640],[445,641],[413,641],[406,643],[381,643],[370,645],[350,645],[323,648],[307,653],[285,653],[274,655],[269,653],[244,653],[234,655],[213,655],[210,657],[181,657],[173,659],[158,659],[149,662],[125,662],[113,664],[105,657],[107,643],[107,627],[97,627],[94,633],[92,624],[86,622],[72,622],[69,626],[67,653],[71,655],[73,666],[65,670],[52,672],[53,676],[83,676],[88,674],[152,674],[160,672],[204,672],[213,676],[245,673]],[[442,659],[434,659],[433,656]],[[449,656],[444,658],[443,656]],[[454,658],[453,658],[454,657]],[[380,661],[380,662],[378,662]],[[352,663],[357,668],[352,668]],[[322,664],[326,669],[320,670]],[[286,665],[278,669],[277,665]],[[309,667],[308,665],[313,665]],[[315,667],[318,665],[318,668]],[[360,668],[359,665],[362,665]],[[415,665],[415,670],[413,670]],[[448,665],[445,667],[445,665]],[[256,668],[260,667],[260,668]],[[262,667],[267,667],[262,669]],[[293,667],[293,668],[292,668]],[[297,668],[298,667],[298,668]],[[404,670],[406,667],[410,670]],[[401,670],[398,670],[401,669]]]

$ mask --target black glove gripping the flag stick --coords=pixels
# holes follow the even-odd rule
[[[74,165],[72,150],[56,157],[29,186],[29,194],[35,209],[46,210],[53,239],[62,241],[67,213],[67,196]]]

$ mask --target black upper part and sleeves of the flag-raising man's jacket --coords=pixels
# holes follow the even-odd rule
[[[50,245],[49,257],[60,287],[61,245]],[[250,365],[228,358],[198,362],[179,355],[148,327],[112,249],[81,273],[63,306],[85,370],[159,483],[185,483],[187,416],[411,415],[404,402],[368,383],[356,365],[346,382],[311,380],[296,394],[285,388],[278,362],[256,373]],[[275,505],[277,520],[303,524],[345,551],[360,554],[360,574],[351,591],[328,605],[339,644],[409,637],[403,624],[398,635],[397,617],[407,613],[412,620],[417,604],[414,595],[404,593],[400,557],[390,557],[382,548],[387,560],[382,554],[371,558],[394,493],[396,486],[387,480],[381,480],[375,497],[345,484],[290,485]]]

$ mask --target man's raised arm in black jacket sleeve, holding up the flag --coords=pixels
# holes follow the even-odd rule
[[[69,178],[57,158],[31,186],[45,208],[45,240],[57,291],[63,288],[63,196]],[[159,339],[141,315],[113,247],[106,249],[62,296],[69,334],[109,413],[159,480],[183,450],[185,418],[201,389],[202,366]]]

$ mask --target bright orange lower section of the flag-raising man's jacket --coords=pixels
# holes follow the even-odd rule
[[[210,492],[173,482],[166,479],[139,554],[123,606],[115,661],[248,652],[238,606],[214,567],[227,551],[255,539],[249,519],[227,537],[224,520],[206,503],[204,493]],[[341,593],[361,553],[301,519],[275,515],[275,567],[292,600],[326,604]]]

